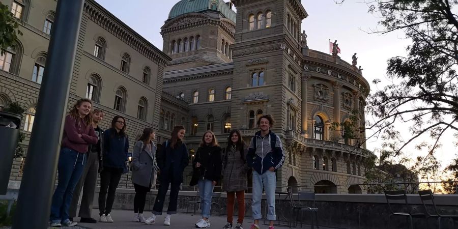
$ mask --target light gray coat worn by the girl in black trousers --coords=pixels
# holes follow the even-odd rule
[[[142,141],[137,141],[132,153],[132,182],[144,187],[156,185],[157,180],[157,162],[156,162],[156,145],[151,141],[152,149],[144,148]]]

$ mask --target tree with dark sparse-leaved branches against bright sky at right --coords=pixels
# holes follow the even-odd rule
[[[397,141],[395,122],[412,122],[412,137],[391,148],[392,153],[397,156],[423,136],[434,143],[428,147],[422,142],[417,148],[428,147],[431,154],[445,131],[452,130],[455,136],[458,131],[458,16],[452,12],[458,1],[376,0],[367,4],[370,12],[382,16],[379,24],[384,30],[374,33],[402,30],[412,40],[406,57],[388,60],[392,83],[369,95],[367,110],[377,120],[368,127],[386,140]]]

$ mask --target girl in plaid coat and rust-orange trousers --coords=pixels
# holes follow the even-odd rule
[[[227,223],[223,229],[232,229],[234,216],[234,200],[237,194],[239,204],[239,217],[234,229],[243,229],[245,216],[245,190],[247,189],[247,171],[250,169],[246,163],[248,148],[245,146],[239,130],[231,130],[227,137],[227,147],[223,153],[223,187],[227,193]]]

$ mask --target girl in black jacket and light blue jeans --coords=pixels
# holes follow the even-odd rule
[[[207,130],[202,136],[201,146],[197,149],[192,167],[194,173],[199,173],[201,177],[197,184],[201,195],[202,219],[199,219],[195,226],[197,228],[210,227],[208,218],[212,206],[213,188],[221,178],[221,147],[211,130]]]

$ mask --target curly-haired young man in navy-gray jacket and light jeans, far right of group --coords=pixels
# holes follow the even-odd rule
[[[267,219],[270,220],[269,229],[273,229],[275,221],[275,188],[277,179],[275,171],[283,165],[284,152],[280,138],[270,128],[274,124],[271,116],[265,115],[257,120],[261,129],[251,138],[248,149],[248,166],[253,169],[253,212],[254,223],[250,229],[259,229],[261,219],[261,198],[263,187],[267,195]]]

